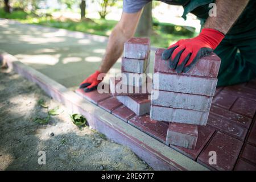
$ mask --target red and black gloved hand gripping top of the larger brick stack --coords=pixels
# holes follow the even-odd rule
[[[170,60],[169,67],[177,73],[187,73],[203,56],[209,55],[220,44],[224,34],[212,28],[203,28],[192,39],[181,39],[162,53],[163,60]]]

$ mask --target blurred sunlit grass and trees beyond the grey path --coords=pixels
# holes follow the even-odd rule
[[[122,0],[1,0],[0,18],[109,36],[121,17],[122,3]],[[150,36],[155,47],[168,47],[181,38],[195,36],[200,31],[199,20],[188,14],[184,21],[182,14],[181,6],[153,1],[144,8],[136,36]]]

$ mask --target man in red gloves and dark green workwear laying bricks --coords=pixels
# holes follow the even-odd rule
[[[84,81],[80,88],[90,92],[102,81],[97,77],[107,73],[122,55],[124,43],[134,36],[143,6],[151,0],[123,0],[121,19],[109,36],[100,68]],[[170,69],[188,72],[203,56],[215,52],[221,58],[217,86],[239,84],[256,77],[256,1],[255,0],[161,0],[184,8],[201,20],[198,36],[181,39],[162,54]],[[216,5],[216,15],[209,16],[210,3]],[[171,80],[170,80],[171,81]]]

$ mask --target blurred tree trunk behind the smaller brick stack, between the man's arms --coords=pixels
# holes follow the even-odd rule
[[[152,30],[152,1],[147,3],[143,8],[141,19],[136,30],[135,35],[139,37],[148,37]]]

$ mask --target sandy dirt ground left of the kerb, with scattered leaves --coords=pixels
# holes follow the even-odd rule
[[[35,122],[57,106],[59,114],[51,115],[47,124]],[[0,170],[151,169],[129,148],[90,127],[79,129],[69,114],[34,83],[0,71]],[[45,152],[46,164],[38,163],[39,151]]]

